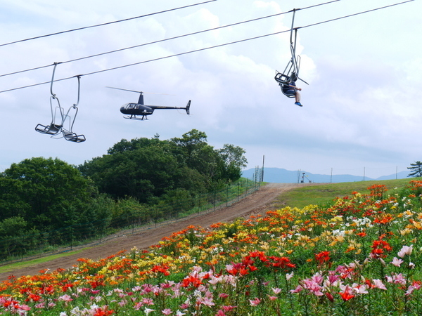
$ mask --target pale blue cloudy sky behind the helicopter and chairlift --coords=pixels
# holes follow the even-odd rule
[[[0,1],[0,91],[19,88],[0,93],[0,171],[31,157],[79,165],[122,139],[167,140],[192,129],[205,132],[215,149],[242,147],[245,169],[377,178],[422,160],[420,0],[368,13],[362,12],[401,1],[217,0],[151,14],[201,2]],[[309,84],[297,82],[303,107],[274,80],[291,58],[294,8],[301,9],[294,24],[300,78]],[[141,15],[147,16],[127,20]],[[267,15],[276,16],[179,37]],[[125,21],[63,32],[117,20]],[[32,37],[40,38],[20,41]],[[241,42],[223,45],[234,41]],[[85,58],[131,46],[139,47]],[[171,55],[177,56],[165,58]],[[53,93],[65,110],[77,103],[72,77],[82,75],[72,130],[84,143],[34,130],[51,122],[51,86],[41,83],[51,81],[54,62],[63,62]],[[191,100],[191,115],[155,110],[146,121],[124,119],[120,107],[139,95],[107,86],[143,91],[149,105],[184,107]]]

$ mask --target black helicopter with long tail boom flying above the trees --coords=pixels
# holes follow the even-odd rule
[[[186,107],[167,107],[167,106],[164,106],[164,105],[144,105],[143,104],[143,93],[144,92],[142,92],[142,91],[133,91],[133,90],[127,90],[127,89],[122,89],[122,88],[113,88],[112,86],[108,86],[107,88],[140,93],[138,103],[127,103],[125,105],[122,105],[122,107],[120,107],[120,112],[122,112],[123,114],[127,114],[127,117],[124,117],[124,119],[137,119],[139,121],[143,121],[144,119],[147,119],[146,117],[148,115],[153,114],[154,110],[157,110],[157,109],[185,110],[186,114],[188,114],[188,115],[190,114],[191,100],[188,101],[188,104],[186,105]],[[136,116],[138,116],[138,117],[136,117]]]

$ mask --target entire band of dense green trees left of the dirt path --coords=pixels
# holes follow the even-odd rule
[[[25,159],[0,173],[0,242],[56,230],[60,244],[68,242],[58,233],[66,227],[113,221],[134,210],[148,213],[151,206],[177,201],[192,207],[198,195],[241,178],[244,154],[229,144],[217,150],[193,129],[170,140],[123,139],[79,166],[57,158]]]

